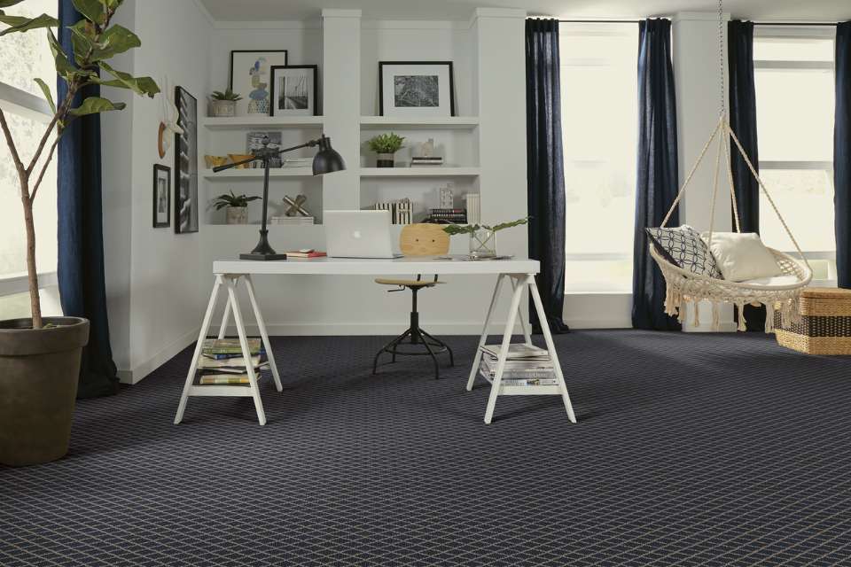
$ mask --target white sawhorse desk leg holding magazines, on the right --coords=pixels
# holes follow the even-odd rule
[[[541,322],[541,330],[543,332],[544,342],[547,346],[547,351],[550,353],[550,360],[553,363],[554,373],[557,379],[557,392],[549,392],[547,386],[525,386],[527,388],[541,388],[542,393],[558,393],[561,396],[562,402],[565,405],[565,410],[567,412],[567,419],[569,419],[572,423],[576,423],[576,416],[574,415],[574,408],[570,402],[570,395],[567,393],[567,386],[565,384],[565,377],[561,371],[561,364],[558,361],[558,353],[556,352],[556,346],[553,343],[552,335],[550,334],[550,326],[547,324],[547,316],[543,310],[543,303],[541,301],[541,295],[538,291],[538,286],[535,284],[535,275],[534,274],[501,274],[496,278],[496,286],[494,287],[494,294],[490,299],[490,306],[488,307],[488,315],[485,317],[484,328],[481,331],[481,337],[479,338],[479,347],[476,349],[476,355],[473,359],[472,369],[470,369],[470,377],[467,379],[467,391],[472,390],[472,384],[476,380],[476,375],[479,373],[479,366],[482,357],[482,346],[485,346],[485,343],[488,340],[488,325],[490,324],[491,317],[493,316],[494,306],[496,305],[496,299],[499,297],[500,287],[503,283],[504,278],[511,279],[511,287],[513,289],[513,293],[511,295],[511,307],[509,308],[508,313],[508,321],[505,322],[505,330],[503,332],[503,342],[502,348],[500,349],[499,358],[496,361],[496,372],[494,373],[493,384],[491,384],[490,395],[488,396],[488,408],[485,410],[485,423],[490,423],[494,416],[494,409],[496,408],[496,398],[502,393],[502,380],[505,369],[505,361],[508,355],[509,345],[511,344],[511,336],[514,333],[514,323],[517,321],[519,317],[520,326],[523,330],[523,336],[526,340],[527,345],[532,344],[532,339],[530,337],[529,329],[527,327],[526,322],[523,321],[523,314],[520,311],[520,300],[523,297],[523,289],[528,287],[529,293],[532,296],[532,301],[535,304],[535,313],[538,315],[538,321]],[[532,390],[529,393],[533,393]]]

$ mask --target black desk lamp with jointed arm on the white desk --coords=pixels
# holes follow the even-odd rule
[[[269,203],[269,163],[273,158],[287,151],[300,150],[301,148],[313,148],[319,146],[319,151],[313,157],[313,175],[330,174],[335,171],[346,169],[343,157],[331,147],[331,138],[322,136],[318,140],[310,140],[307,144],[294,145],[292,148],[283,150],[269,149],[269,137],[263,137],[262,150],[254,151],[254,157],[243,159],[224,166],[213,167],[213,172],[218,173],[231,167],[241,166],[258,159],[263,162],[263,219],[260,228],[260,242],[254,246],[254,250],[247,254],[239,254],[240,260],[286,260],[286,254],[278,254],[269,246],[269,229],[266,228],[266,214]]]

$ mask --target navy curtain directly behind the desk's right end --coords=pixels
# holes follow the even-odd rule
[[[553,333],[567,332],[565,306],[565,170],[561,147],[558,19],[526,20],[526,125],[529,258]],[[541,332],[535,308],[529,319]]]

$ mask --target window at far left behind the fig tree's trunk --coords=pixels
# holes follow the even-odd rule
[[[7,9],[13,15],[35,17],[41,13],[53,16],[56,0],[27,0]],[[0,24],[0,28],[4,28]],[[0,108],[12,130],[21,159],[28,163],[50,120],[50,108],[41,89],[33,81],[40,77],[55,89],[56,72],[50,46],[43,30],[0,37]],[[55,99],[56,93],[53,92]],[[29,316],[26,277],[26,249],[23,210],[20,206],[18,175],[12,165],[9,148],[0,137],[0,319]],[[36,262],[43,273],[42,285],[56,285],[56,165],[48,168],[35,199]],[[55,291],[52,291],[55,296]],[[50,295],[50,294],[48,294]],[[43,303],[45,315],[58,313],[55,297]]]

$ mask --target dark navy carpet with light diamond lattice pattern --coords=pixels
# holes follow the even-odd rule
[[[189,353],[82,401],[66,459],[0,468],[0,564],[851,564],[851,359],[761,334],[558,337],[558,397],[465,392],[386,338],[277,338],[285,380],[192,399]]]

